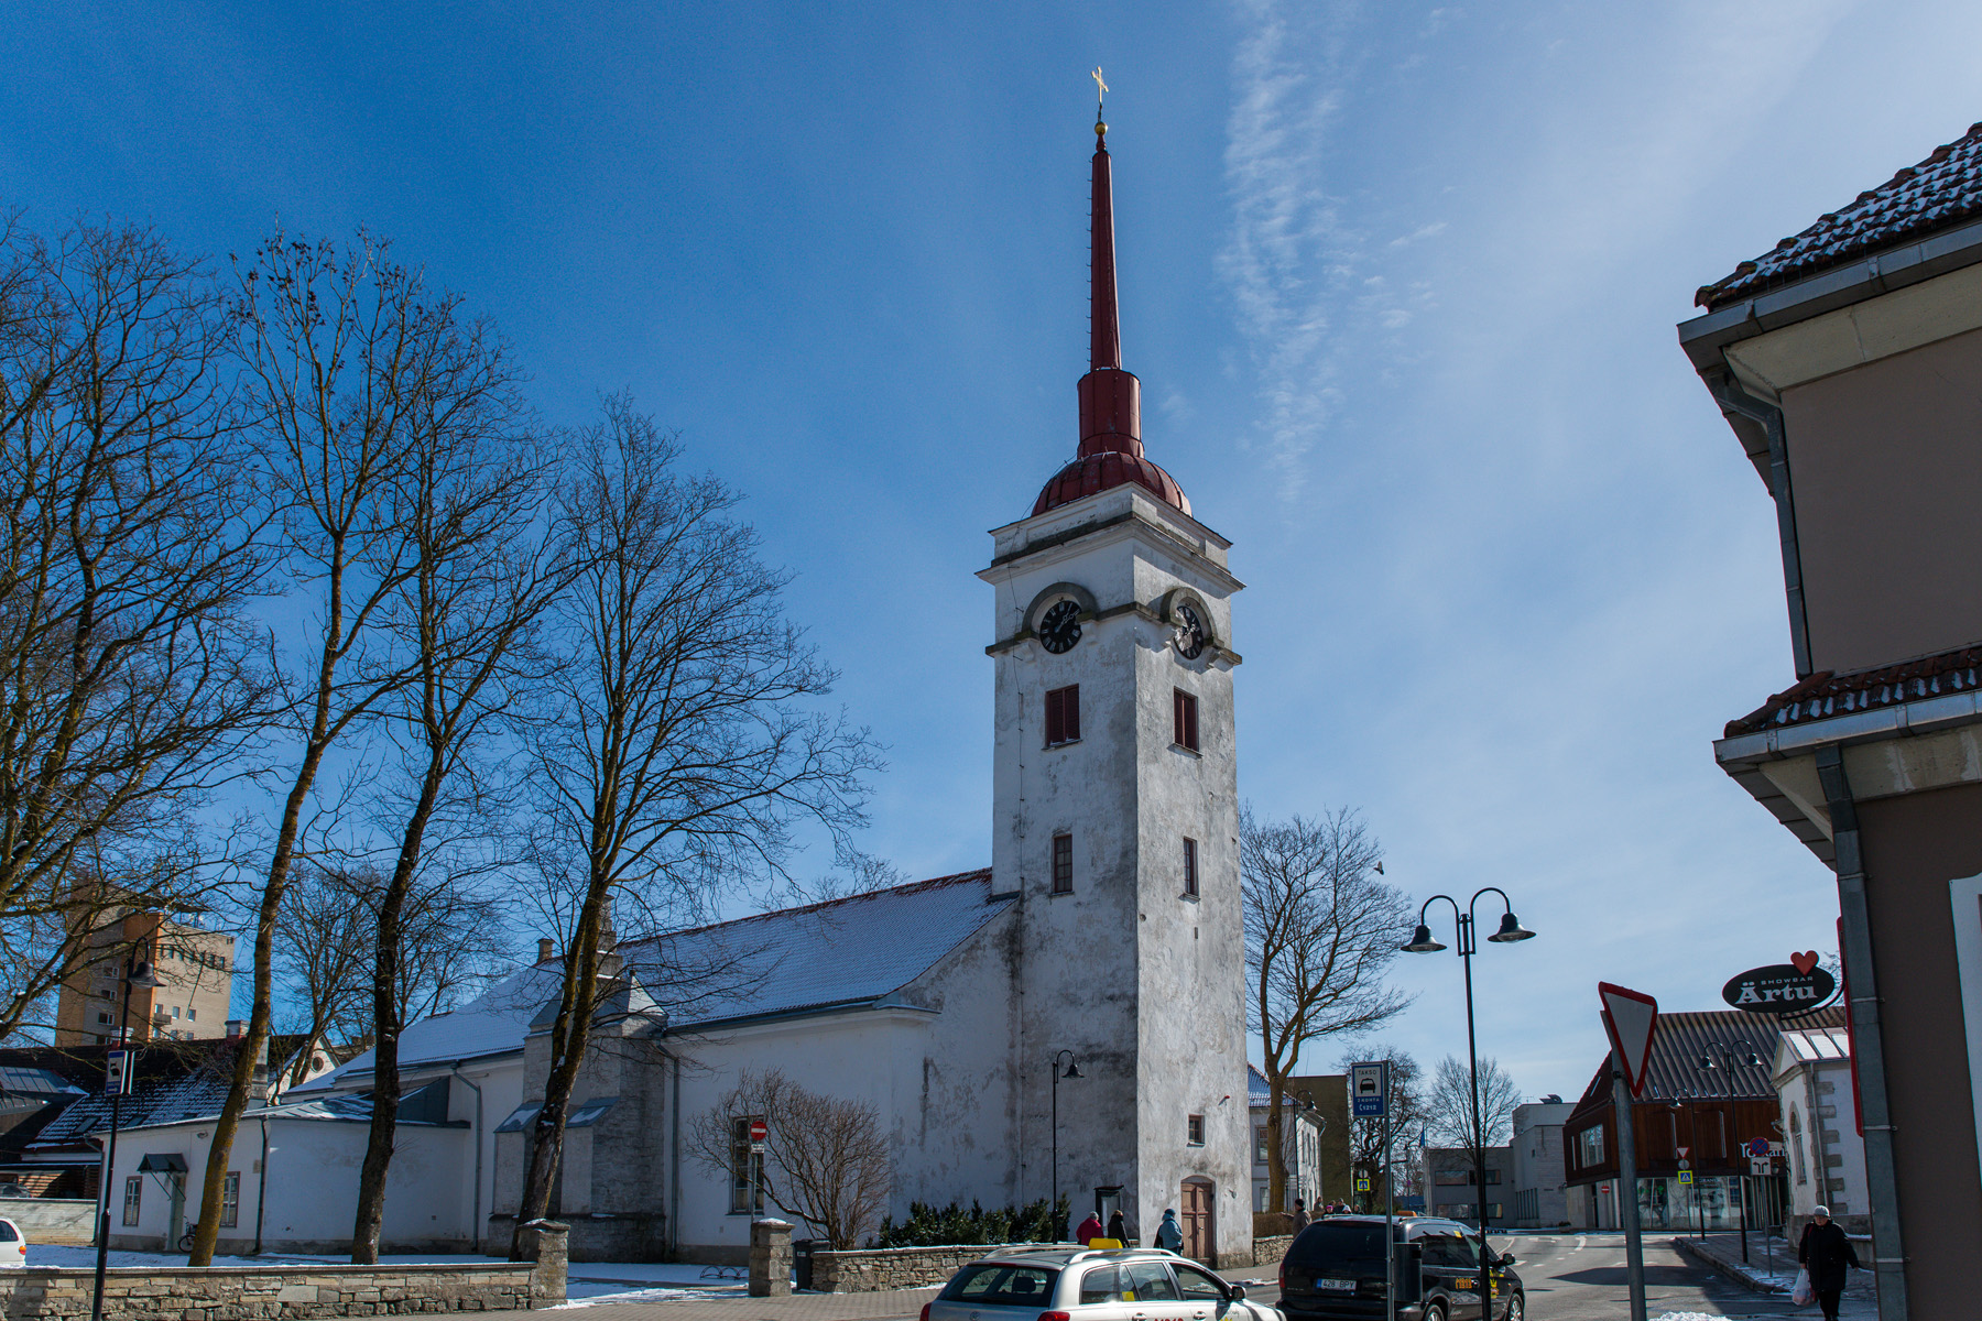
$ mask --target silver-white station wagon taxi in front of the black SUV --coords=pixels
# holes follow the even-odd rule
[[[922,1321],[1134,1321],[1161,1305],[1185,1321],[1286,1321],[1245,1289],[1161,1248],[1039,1248],[971,1262]]]

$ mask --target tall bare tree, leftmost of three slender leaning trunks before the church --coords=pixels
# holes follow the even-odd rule
[[[275,919],[323,759],[412,677],[385,628],[418,559],[402,493],[432,396],[460,356],[454,299],[430,297],[363,232],[351,248],[277,232],[236,273],[250,426],[283,501],[283,560],[307,604],[297,654],[279,656],[295,761],[254,901],[248,1030],[214,1121],[190,1266],[214,1258],[234,1135],[268,1042]]]

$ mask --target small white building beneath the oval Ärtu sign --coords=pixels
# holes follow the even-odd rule
[[[1871,1232],[1865,1139],[1851,1101],[1851,1034],[1786,1028],[1770,1073],[1782,1097],[1782,1155],[1790,1182],[1790,1236],[1827,1206],[1853,1234]]]

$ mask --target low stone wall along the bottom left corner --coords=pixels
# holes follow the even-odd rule
[[[287,1321],[373,1317],[408,1311],[519,1311],[563,1301],[531,1289],[529,1264],[501,1266],[283,1266],[119,1268],[103,1281],[113,1321]],[[83,1321],[95,1275],[30,1266],[0,1271],[6,1321]],[[535,1299],[535,1301],[533,1301]]]

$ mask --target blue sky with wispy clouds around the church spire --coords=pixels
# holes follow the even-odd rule
[[[1415,897],[1502,885],[1481,1050],[1601,1052],[1831,949],[1712,764],[1792,679],[1693,289],[1982,117],[1960,4],[14,6],[0,200],[224,259],[367,224],[551,422],[630,388],[749,495],[890,745],[866,848],[989,856],[985,529],[1074,448],[1108,71],[1146,440],[1231,537],[1241,790],[1360,806]],[[825,862],[821,860],[821,867]],[[1447,919],[1449,921],[1449,919]],[[1465,1050],[1457,963],[1389,1034]],[[1334,1050],[1324,1052],[1332,1064]]]

